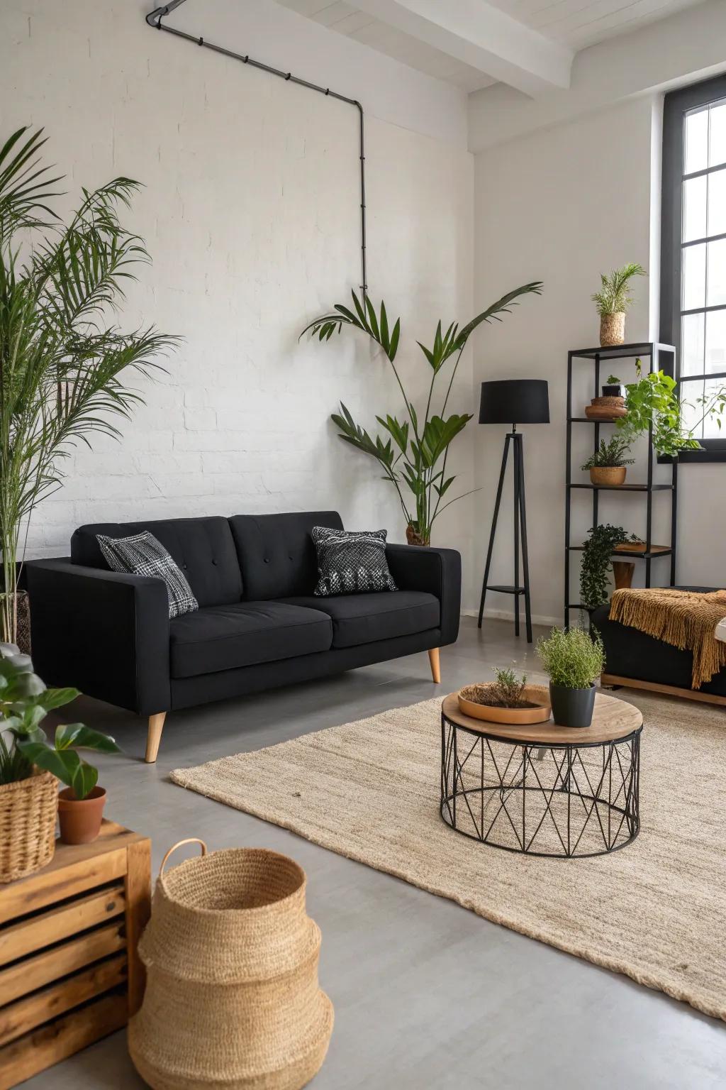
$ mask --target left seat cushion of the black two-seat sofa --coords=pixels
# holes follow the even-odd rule
[[[238,666],[328,651],[328,614],[284,602],[209,606],[169,625],[171,676],[196,677]]]

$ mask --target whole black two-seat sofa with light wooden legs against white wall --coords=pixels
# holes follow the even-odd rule
[[[156,760],[167,712],[438,649],[458,634],[460,557],[387,545],[398,591],[313,597],[315,525],[335,511],[81,526],[71,556],[30,560],[33,661],[49,683],[148,716]],[[182,568],[199,610],[169,619],[159,579],[109,570],[96,534],[150,531]]]

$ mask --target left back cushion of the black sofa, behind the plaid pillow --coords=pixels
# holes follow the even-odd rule
[[[96,535],[128,537],[145,530],[171,554],[200,606],[239,602],[242,576],[226,519],[160,519],[79,526],[71,538],[71,559],[90,568],[108,568]]]

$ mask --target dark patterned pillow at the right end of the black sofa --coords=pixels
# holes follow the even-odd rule
[[[313,526],[318,550],[317,597],[397,591],[385,559],[385,530],[349,531]]]

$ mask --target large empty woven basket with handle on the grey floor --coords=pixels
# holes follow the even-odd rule
[[[161,864],[139,943],[147,984],[128,1024],[132,1059],[155,1090],[299,1090],[333,1029],[305,872],[274,851],[207,855],[194,843],[200,858],[165,874],[172,848]]]

